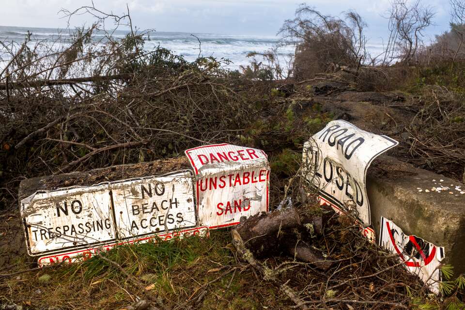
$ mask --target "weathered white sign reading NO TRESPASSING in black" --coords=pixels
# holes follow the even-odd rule
[[[20,211],[30,255],[115,240],[107,185],[37,192]]]

